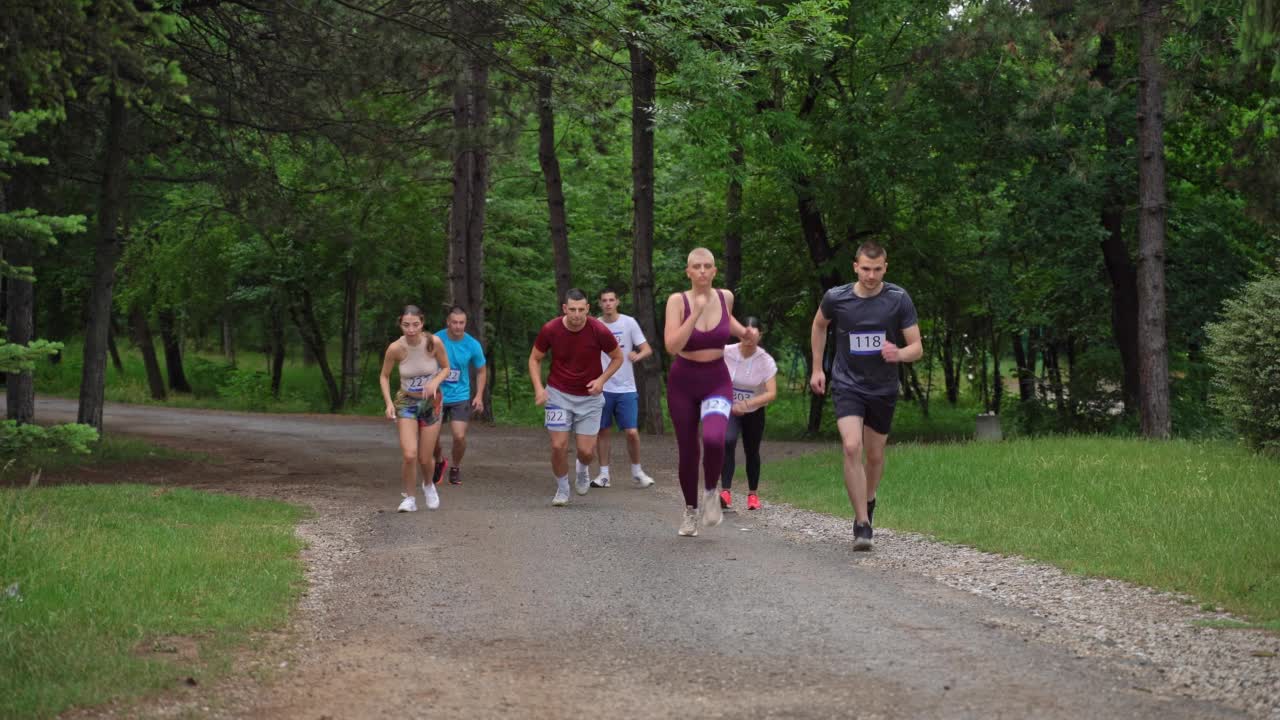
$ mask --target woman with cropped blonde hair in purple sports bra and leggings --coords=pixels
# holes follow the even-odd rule
[[[685,274],[692,287],[667,299],[663,341],[667,352],[676,356],[667,374],[667,411],[676,428],[680,489],[685,495],[680,534],[694,537],[698,534],[699,521],[712,528],[723,518],[716,487],[724,462],[724,428],[728,425],[733,398],[733,383],[730,380],[728,366],[724,365],[724,345],[731,334],[746,334],[746,328],[733,319],[733,293],[712,287],[712,281],[716,279],[716,256],[710,250],[699,247],[690,252]],[[700,506],[699,454],[703,464]]]

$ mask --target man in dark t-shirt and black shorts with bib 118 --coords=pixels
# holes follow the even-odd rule
[[[897,364],[924,355],[915,305],[905,290],[884,282],[887,268],[884,249],[864,242],[854,256],[858,282],[828,290],[809,331],[809,388],[824,395],[828,386],[822,357],[827,328],[836,324],[831,389],[845,447],[845,491],[854,506],[854,550],[872,548],[876,489],[884,473],[884,446],[897,401]]]

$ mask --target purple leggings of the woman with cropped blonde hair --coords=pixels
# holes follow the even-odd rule
[[[676,356],[667,374],[667,411],[676,427],[676,447],[680,451],[680,489],[685,505],[698,506],[698,424],[703,425],[703,482],[707,489],[716,489],[721,466],[724,464],[724,428],[728,425],[728,407],[733,397],[733,383],[728,365],[722,357],[698,363]],[[708,402],[704,414],[703,401]]]

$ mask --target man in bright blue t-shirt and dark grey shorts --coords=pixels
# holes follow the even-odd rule
[[[436,483],[443,479],[444,471],[449,471],[449,484],[462,484],[462,456],[467,452],[467,423],[471,421],[471,413],[484,411],[484,384],[488,379],[488,370],[484,366],[484,348],[480,341],[467,333],[467,311],[454,305],[449,307],[445,316],[444,329],[435,333],[435,337],[444,342],[444,351],[449,355],[449,375],[440,383],[443,395],[442,418],[449,424],[453,434],[453,466],[444,460],[442,441],[435,441],[435,473]],[[476,395],[471,397],[471,368],[476,370]]]

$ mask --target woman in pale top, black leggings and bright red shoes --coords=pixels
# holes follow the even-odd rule
[[[760,347],[760,320],[748,318],[742,322],[746,333],[742,342],[724,347],[724,364],[728,365],[733,380],[732,416],[724,432],[724,465],[721,470],[721,507],[728,507],[733,496],[735,455],[737,436],[742,436],[742,451],[746,455],[746,509],[759,510],[760,498],[755,495],[760,486],[760,441],[764,439],[764,406],[778,396],[778,365]]]

